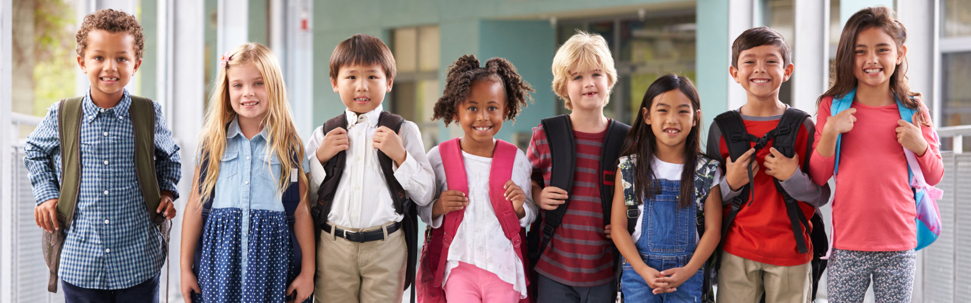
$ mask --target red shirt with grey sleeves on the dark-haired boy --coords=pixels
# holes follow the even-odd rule
[[[782,115],[771,117],[753,117],[742,115],[745,122],[745,129],[755,137],[761,138],[765,133],[775,129],[779,125]],[[813,180],[804,172],[803,164],[806,163],[807,156],[812,154],[813,140],[815,133],[813,118],[806,118],[799,133],[796,135],[795,151],[799,156],[799,168],[792,173],[786,181],[780,184],[788,192],[789,196],[799,201],[799,209],[802,210],[806,219],[813,217],[816,208],[823,206],[829,200],[829,185],[816,185]],[[765,156],[770,152],[775,140],[770,140],[765,148],[755,152],[755,160],[759,164],[759,170],[754,175],[753,183],[753,202],[742,204],[742,209],[738,216],[731,223],[728,232],[724,235],[722,248],[725,253],[731,253],[756,262],[778,265],[794,266],[805,264],[813,259],[812,241],[809,234],[803,232],[808,252],[799,253],[796,248],[795,238],[792,236],[792,225],[789,222],[786,201],[783,195],[776,189],[773,178],[765,174]],[[752,144],[754,146],[754,143]],[[712,123],[708,134],[708,155],[727,163],[728,147],[722,138],[718,124]],[[723,167],[723,166],[722,166]],[[727,171],[726,171],[727,174]],[[732,191],[725,182],[720,181],[721,202],[727,205],[732,198],[738,196],[741,190]],[[729,207],[724,208],[724,215],[727,216]],[[812,223],[811,223],[812,226]],[[821,226],[817,226],[820,227]]]

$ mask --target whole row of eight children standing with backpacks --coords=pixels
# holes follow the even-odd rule
[[[159,106],[149,100],[154,119],[142,118],[147,99],[123,88],[144,49],[135,17],[99,11],[77,39],[90,89],[51,106],[24,147],[37,223],[46,243],[61,239],[51,274],[68,302],[157,301],[179,147]],[[729,74],[748,102],[715,119],[706,152],[686,77],[654,81],[631,126],[604,116],[618,75],[599,35],[578,32],[556,51],[552,90],[571,114],[543,119],[526,152],[495,138],[534,91],[503,58],[449,67],[433,118],[464,135],[424,152],[417,124],[382,106],[396,70],[380,39],[354,35],[333,51],[330,83],[347,109],[306,145],[276,57],[242,45],[220,58],[199,135],[182,293],[400,302],[411,287],[419,302],[614,302],[619,289],[626,302],[810,302],[826,244],[813,235],[842,155],[829,300],[861,302],[872,279],[878,302],[909,301],[917,215],[906,154],[926,184],[943,164],[925,101],[907,85],[905,39],[887,8],[850,17],[814,123],[779,100],[793,70],[784,38],[745,31]],[[417,219],[428,225],[420,255]]]

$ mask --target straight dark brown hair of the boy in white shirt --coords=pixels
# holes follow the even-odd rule
[[[348,65],[378,64],[385,69],[388,83],[394,79],[398,70],[395,68],[394,55],[384,42],[378,37],[356,34],[345,41],[341,41],[330,54],[330,78],[337,79],[337,73]]]

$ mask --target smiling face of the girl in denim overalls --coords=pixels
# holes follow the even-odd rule
[[[641,115],[644,122],[651,125],[657,146],[683,148],[687,134],[701,113],[691,106],[691,99],[684,92],[674,89],[654,97],[650,112],[641,108]]]

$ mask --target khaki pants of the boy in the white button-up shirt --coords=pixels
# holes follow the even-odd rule
[[[362,229],[337,226],[354,232],[385,229],[385,240],[367,243],[338,238],[332,232],[320,232],[314,279],[317,302],[401,302],[408,249],[404,230],[387,234],[386,227],[391,223]],[[330,230],[334,230],[333,225]]]

